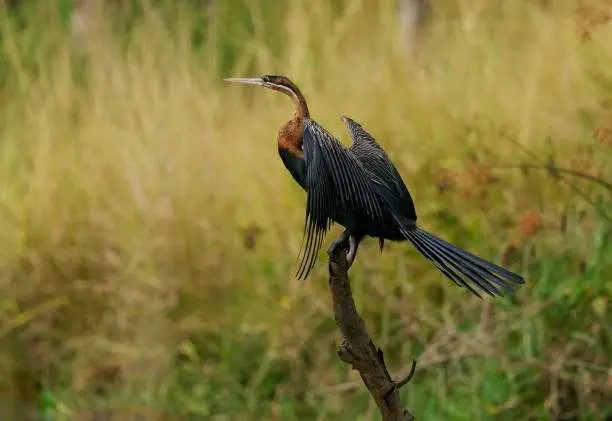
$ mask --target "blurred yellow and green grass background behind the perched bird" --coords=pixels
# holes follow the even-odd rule
[[[204,3],[110,2],[78,40],[68,0],[2,12],[2,419],[379,419],[324,253],[293,278],[290,103],[221,81],[265,73],[372,132],[423,227],[527,276],[480,301],[364,243],[357,304],[394,373],[418,359],[418,419],[612,416],[610,191],[516,168],[612,179],[610,2],[440,0],[410,54],[393,1]]]

